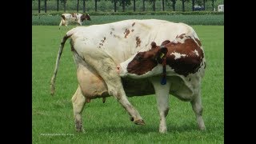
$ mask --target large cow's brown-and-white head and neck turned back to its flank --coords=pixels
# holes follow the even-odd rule
[[[162,74],[162,60],[166,58],[169,70],[183,76],[198,72],[203,62],[204,54],[201,42],[193,35],[181,34],[174,41],[166,40],[161,46],[151,43],[151,49],[139,52],[134,57],[120,63],[120,76],[130,78],[146,78]]]

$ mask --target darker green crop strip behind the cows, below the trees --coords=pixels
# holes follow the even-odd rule
[[[162,19],[171,22],[184,22],[189,25],[224,25],[224,14],[203,15],[90,15],[91,21],[83,22],[84,26],[116,22],[124,19]],[[32,16],[32,25],[58,26],[61,22],[60,15]],[[76,24],[75,24],[76,25]]]

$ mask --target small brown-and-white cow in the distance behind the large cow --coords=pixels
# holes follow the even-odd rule
[[[61,28],[61,26],[68,26],[70,22],[78,22],[80,26],[82,26],[82,22],[84,20],[90,21],[90,15],[89,14],[78,14],[78,13],[72,13],[72,14],[62,14],[62,20],[59,23],[58,29]]]

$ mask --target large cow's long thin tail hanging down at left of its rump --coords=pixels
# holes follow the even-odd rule
[[[67,38],[70,38],[72,34],[66,34],[63,38],[62,38],[62,42],[61,42],[61,45],[59,46],[59,50],[58,50],[58,55],[57,55],[57,59],[56,59],[56,64],[55,64],[55,69],[54,69],[54,75],[53,77],[51,78],[51,81],[50,81],[50,94],[51,95],[54,95],[54,90],[55,90],[55,80],[56,80],[56,75],[57,75],[57,72],[58,72],[58,64],[59,64],[59,60],[62,56],[62,50],[64,48],[64,45],[65,45],[65,42],[66,42],[66,39]]]

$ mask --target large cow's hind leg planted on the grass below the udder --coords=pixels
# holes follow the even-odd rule
[[[74,93],[72,97],[72,103],[73,103],[73,110],[74,110],[74,123],[75,123],[75,129],[78,132],[83,131],[82,128],[82,110],[86,103],[86,98],[82,95],[80,86],[78,86],[78,89]]]

